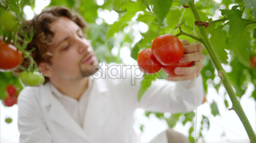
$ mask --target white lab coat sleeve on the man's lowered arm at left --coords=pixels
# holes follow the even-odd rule
[[[26,87],[18,96],[18,130],[19,142],[23,143],[49,143],[51,135],[46,128],[46,123],[39,102],[36,98],[36,88]]]

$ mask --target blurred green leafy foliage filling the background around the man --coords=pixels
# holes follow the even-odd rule
[[[135,2],[130,0],[104,0],[102,4],[97,4],[96,0],[53,0],[48,7],[65,6],[79,13],[88,23],[86,35],[91,40],[98,59],[106,60],[108,63],[123,63],[122,57],[120,57],[120,49],[123,46],[129,46],[131,57],[136,60],[139,51],[144,48],[150,48],[152,40],[158,35],[178,34],[179,31],[174,33],[175,27],[179,23],[183,11],[184,15],[181,21],[184,21],[184,23],[181,25],[182,30],[200,37],[197,26],[194,33],[195,19],[191,10],[183,8],[183,4],[186,5],[190,1],[137,0]],[[17,13],[19,8],[23,9],[26,5],[29,5],[32,9],[35,6],[33,0],[17,2],[17,0],[11,0],[8,3],[10,9]],[[221,63],[230,69],[227,71],[228,77],[236,91],[236,95],[239,98],[243,97],[250,83],[254,86],[251,98],[256,100],[256,69],[252,69],[249,66],[249,58],[256,54],[256,2],[253,0],[225,0],[217,3],[215,1],[200,0],[196,3],[196,7],[202,20],[209,22],[207,32],[209,33],[210,41]],[[118,19],[109,24],[99,16],[101,11],[115,11],[118,14]],[[212,20],[216,19],[216,13],[218,12],[221,12],[221,16],[217,18],[222,19],[219,22]],[[3,13],[3,9],[0,10],[1,13]],[[97,20],[102,22],[96,22]],[[141,38],[136,39],[134,33],[138,31],[133,29],[133,26],[141,22],[147,25],[148,30],[146,32],[139,31]],[[0,28],[0,35],[3,35],[2,27]],[[183,35],[179,38],[186,39],[190,43],[197,42]],[[114,47],[118,49],[118,54],[113,54]],[[204,68],[201,74],[204,91],[207,96],[208,87],[214,87],[219,93],[219,88],[222,85],[221,80],[216,80],[218,75],[205,49],[203,53],[205,54],[205,60],[203,61]],[[162,72],[159,72],[159,74],[164,76]],[[142,80],[138,98],[141,98],[152,80]],[[0,83],[0,99],[6,96],[5,87],[7,84],[15,84],[20,90],[22,89],[22,85],[12,73],[0,72]],[[225,96],[223,103],[228,108],[227,96],[225,94],[220,96]],[[211,101],[208,105],[212,116],[220,115],[217,102]],[[177,113],[167,117],[164,116],[164,113],[145,111],[145,116],[149,117],[151,114],[165,120],[170,128],[174,128],[178,122],[183,125],[190,123],[188,130],[189,140],[194,142],[194,112]],[[209,129],[210,126],[208,117],[201,115],[199,119],[201,120],[201,128],[198,138],[202,137],[202,131]],[[143,127],[141,125],[141,131],[143,131]]]

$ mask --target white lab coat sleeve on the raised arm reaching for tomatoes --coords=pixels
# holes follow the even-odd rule
[[[137,80],[138,89],[141,80]],[[203,92],[201,75],[196,79],[185,81],[156,79],[147,88],[141,100],[137,101],[136,106],[155,112],[189,112],[202,103]]]

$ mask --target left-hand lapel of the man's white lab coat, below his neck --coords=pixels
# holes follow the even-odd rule
[[[63,105],[52,95],[49,83],[41,86],[40,94],[42,94],[41,102],[42,108],[46,112],[46,120],[53,120],[58,124],[70,129],[73,133],[79,135],[83,139],[89,141],[87,134],[69,115]]]

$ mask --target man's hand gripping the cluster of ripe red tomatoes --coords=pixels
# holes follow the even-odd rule
[[[180,63],[192,62],[191,67],[176,67],[174,72],[177,75],[171,77],[168,76],[168,80],[178,81],[178,80],[189,80],[195,78],[195,70],[196,70],[196,77],[200,75],[201,70],[203,69],[204,55],[202,53],[203,46],[200,43],[191,43],[189,44],[187,40],[181,40],[182,44],[184,45],[184,54],[179,61]],[[197,61],[197,66],[196,66]]]

